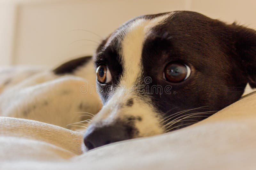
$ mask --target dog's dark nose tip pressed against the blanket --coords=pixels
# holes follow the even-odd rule
[[[124,125],[116,124],[100,128],[89,126],[84,134],[84,145],[88,150],[91,150],[96,147],[127,139],[130,139],[129,132]]]

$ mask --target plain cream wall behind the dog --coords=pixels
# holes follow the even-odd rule
[[[93,54],[125,21],[176,10],[256,29],[255,0],[1,0],[0,66],[54,67]]]

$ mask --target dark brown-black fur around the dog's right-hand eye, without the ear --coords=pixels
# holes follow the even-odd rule
[[[165,114],[176,107],[165,116],[202,106],[209,107],[200,111],[217,111],[240,98],[248,81],[239,66],[242,60],[236,61],[233,27],[196,12],[183,11],[153,28],[142,51],[144,74],[153,79],[149,85],[171,85],[177,93],[149,92],[157,110]],[[163,66],[172,61],[192,68],[186,81],[170,83],[162,79]]]

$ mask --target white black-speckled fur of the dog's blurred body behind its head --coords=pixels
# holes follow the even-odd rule
[[[91,91],[90,87],[93,87]],[[78,112],[96,114],[100,110],[101,102],[95,90],[92,61],[73,75],[44,71],[4,89],[0,95],[0,116],[28,118],[75,130],[79,126],[68,124],[91,118],[81,117],[86,113]]]

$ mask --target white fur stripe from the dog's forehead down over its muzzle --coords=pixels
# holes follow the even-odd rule
[[[165,18],[172,15],[171,13],[154,19],[139,18],[125,27],[124,39],[121,42],[122,51],[120,51],[121,62],[123,64],[123,76],[120,78],[118,92],[115,93],[108,103],[94,117],[93,122],[101,122],[102,124],[112,124],[117,118],[121,120],[126,116],[140,116],[142,121],[136,121],[135,126],[139,130],[138,137],[151,136],[161,134],[164,129],[159,124],[159,118],[154,108],[151,107],[150,99],[142,99],[133,89],[136,85],[136,79],[142,75],[141,53],[144,40],[147,38],[150,29],[161,23]],[[118,32],[117,32],[118,33]],[[118,34],[113,36],[119,36]],[[121,33],[121,31],[119,31]],[[110,44],[111,40],[108,40]],[[121,41],[121,40],[119,40]],[[132,93],[127,93],[131,92]],[[133,99],[132,107],[125,106],[125,103]],[[120,107],[122,106],[122,107]]]

